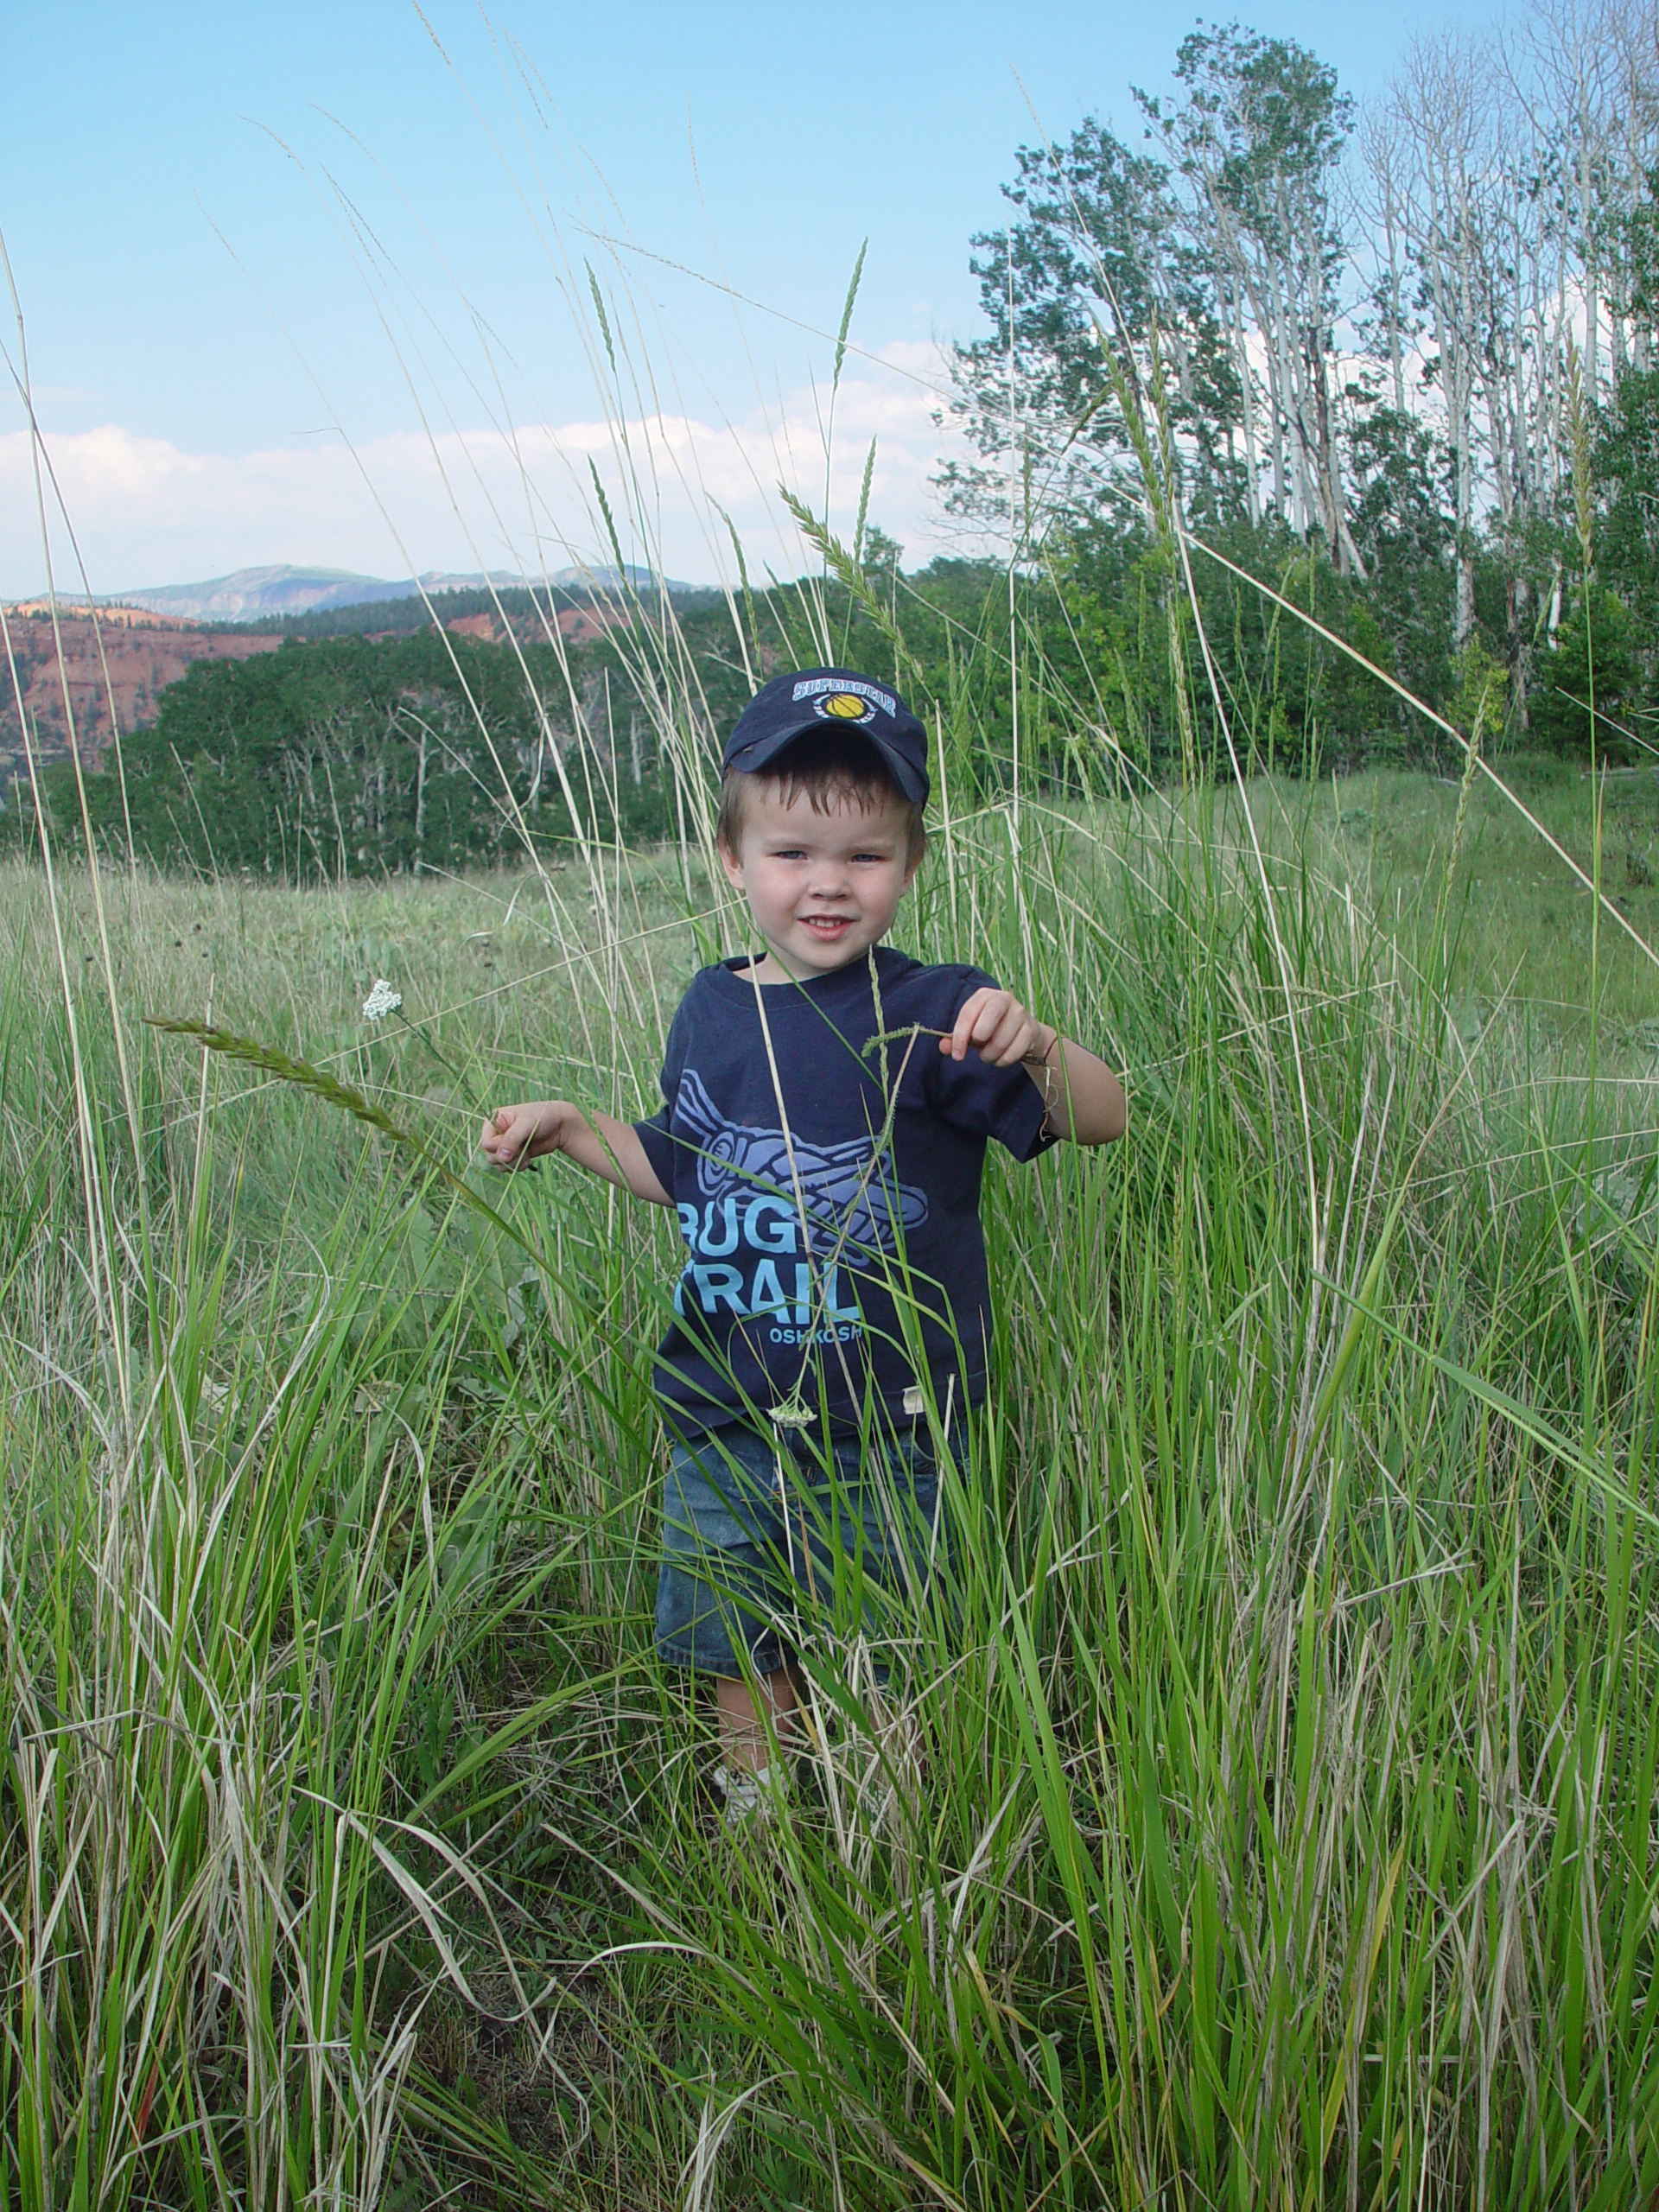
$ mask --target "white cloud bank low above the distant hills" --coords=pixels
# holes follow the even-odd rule
[[[714,582],[734,571],[730,513],[750,562],[794,575],[807,557],[776,495],[790,484],[814,511],[830,498],[852,535],[869,440],[876,467],[869,520],[918,562],[951,540],[929,476],[951,442],[933,414],[945,363],[931,345],[891,345],[849,361],[834,396],[801,385],[743,420],[653,416],[498,429],[420,429],[257,453],[195,453],[122,425],[46,434],[58,487],[93,591],[195,582],[232,568],[294,562],[405,575],[409,568],[562,568],[608,560],[593,471],[606,489],[628,560]],[[403,553],[398,551],[403,544]],[[60,588],[80,588],[62,524],[53,526]],[[29,438],[0,436],[0,593],[44,580]]]

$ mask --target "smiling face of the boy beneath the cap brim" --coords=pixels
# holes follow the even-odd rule
[[[721,860],[765,938],[770,982],[807,982],[863,960],[891,929],[916,874],[896,792],[880,790],[869,805],[832,796],[821,814],[805,792],[785,801],[768,776],[748,792],[741,849],[721,845]],[[765,973],[774,967],[783,975]]]

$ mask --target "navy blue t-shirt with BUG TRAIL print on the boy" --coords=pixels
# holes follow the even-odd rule
[[[885,945],[874,982],[865,960],[757,991],[748,958],[692,980],[668,1031],[661,1113],[635,1124],[688,1248],[657,1352],[675,1429],[794,1400],[814,1416],[827,1402],[847,1429],[869,1394],[905,1420],[918,1369],[940,1407],[951,1391],[958,1407],[984,1398],[984,1144],[1015,1159],[1053,1144],[1022,1066],[938,1048],[984,984],[982,969],[922,967]]]

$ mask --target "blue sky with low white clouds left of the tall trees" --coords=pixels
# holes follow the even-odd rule
[[[1243,20],[1365,97],[1411,29],[1489,13]],[[969,234],[1000,221],[1018,144],[1091,111],[1133,131],[1130,84],[1161,88],[1192,22],[1161,0],[13,11],[0,228],[93,586],[555,566],[597,553],[588,462],[626,509],[628,456],[637,487],[655,469],[630,551],[712,575],[714,498],[787,564],[774,478],[845,511],[872,436],[874,511],[925,557],[938,345],[975,330]],[[825,465],[821,332],[863,239],[854,338],[876,358],[849,363]],[[611,403],[584,259],[628,347]],[[608,416],[635,425],[626,453]],[[4,595],[44,573],[20,425],[7,396]]]

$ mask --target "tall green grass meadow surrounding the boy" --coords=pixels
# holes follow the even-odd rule
[[[885,1688],[794,1624],[739,1845],[650,1648],[672,1221],[471,1166],[655,1106],[723,898],[0,878],[0,2201],[1648,2203],[1659,971],[1482,785],[958,803],[898,940],[1130,1135],[989,1170],[951,1601]]]

